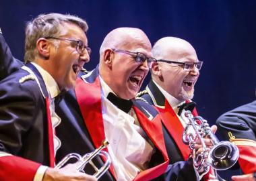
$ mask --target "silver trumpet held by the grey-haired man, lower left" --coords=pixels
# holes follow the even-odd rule
[[[77,160],[76,170],[78,170],[79,172],[84,172],[84,168],[85,168],[86,164],[89,163],[89,164],[91,164],[92,168],[94,168],[94,170],[96,171],[94,173],[94,176],[98,179],[106,172],[106,170],[108,170],[108,168],[110,167],[110,164],[111,164],[111,159],[110,159],[109,154],[102,150],[108,144],[109,144],[108,141],[104,140],[104,141],[102,141],[102,145],[100,145],[100,147],[95,149],[94,152],[90,152],[88,154],[85,154],[84,156],[80,156],[79,154],[76,154],[76,153],[67,154],[67,156],[65,156],[55,166],[55,168],[62,168],[65,164],[67,164],[67,162],[69,162],[69,160],[75,158]],[[104,158],[106,158],[106,162],[104,163],[104,165],[101,168],[97,168],[94,165],[94,163],[92,162],[92,159],[96,156],[103,156]]]

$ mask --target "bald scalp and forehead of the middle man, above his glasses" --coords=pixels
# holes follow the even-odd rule
[[[150,51],[152,48],[148,36],[139,28],[119,27],[113,29],[113,31],[106,35],[100,46],[100,60],[107,48],[122,49],[125,47],[126,50],[129,50],[134,46],[148,48]]]

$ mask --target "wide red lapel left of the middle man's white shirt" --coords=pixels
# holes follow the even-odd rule
[[[86,83],[77,78],[75,83],[75,96],[82,113],[84,123],[92,138],[95,147],[100,147],[105,139],[105,131],[102,118],[100,80],[97,77],[94,83]],[[108,149],[104,149],[108,152]],[[103,159],[105,161],[105,159]],[[115,177],[113,166],[109,168],[111,174]]]

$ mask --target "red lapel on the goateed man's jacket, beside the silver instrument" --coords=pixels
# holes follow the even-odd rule
[[[190,149],[189,149],[189,146],[185,145],[185,143],[183,143],[182,141],[184,127],[181,124],[179,117],[177,117],[176,113],[174,112],[172,107],[170,107],[170,104],[166,100],[165,100],[165,108],[161,109],[160,107],[157,107],[157,109],[162,118],[162,123],[164,123],[166,129],[172,136],[172,139],[174,139],[175,143],[181,150],[183,159],[187,160],[189,158]]]

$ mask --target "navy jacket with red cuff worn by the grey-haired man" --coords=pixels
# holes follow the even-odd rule
[[[1,180],[32,180],[41,164],[54,164],[48,93],[39,72],[28,66],[34,74],[20,69],[0,82]]]

